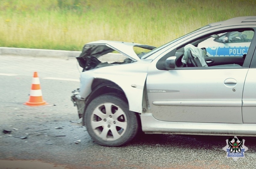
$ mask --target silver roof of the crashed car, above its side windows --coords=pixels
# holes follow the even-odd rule
[[[238,24],[242,22],[256,22],[256,16],[241,16],[236,18],[227,19],[225,21],[221,22],[215,22],[209,24],[211,27],[217,26],[217,25],[227,25],[227,24]]]

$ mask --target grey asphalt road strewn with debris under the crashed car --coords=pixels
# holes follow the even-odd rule
[[[23,104],[33,71],[46,106]],[[255,168],[256,137],[243,137],[248,150],[237,161],[222,150],[230,136],[140,134],[123,147],[96,144],[70,101],[79,71],[75,59],[0,56],[0,168]]]

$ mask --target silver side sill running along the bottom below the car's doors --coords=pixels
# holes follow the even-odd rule
[[[148,134],[256,136],[256,124],[192,123],[160,121],[152,114],[140,115],[142,130]]]

